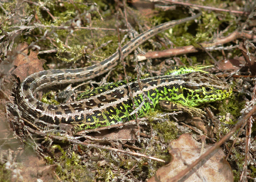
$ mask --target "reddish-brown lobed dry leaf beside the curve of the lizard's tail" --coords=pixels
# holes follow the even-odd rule
[[[16,51],[21,51],[27,46],[27,43],[21,43],[17,46]],[[43,64],[46,62],[44,59],[38,59],[38,51],[31,50],[29,55],[27,53],[28,50],[25,49],[22,51],[22,54],[18,54],[15,57],[12,63],[13,66],[17,67],[12,74],[16,75],[20,79],[20,82],[35,72],[43,71]]]

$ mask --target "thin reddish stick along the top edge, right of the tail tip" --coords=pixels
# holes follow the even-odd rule
[[[198,7],[198,8],[204,8],[204,9],[210,9],[210,10],[213,10],[213,11],[225,11],[225,12],[230,12],[230,13],[249,14],[249,12],[244,12],[244,11],[221,9],[221,8],[215,8],[215,7],[210,7],[210,6],[202,6],[202,5],[198,5],[198,4],[178,2],[177,0],[176,1],[172,1],[172,0],[150,0],[150,1],[180,4],[180,5],[189,6],[189,7]]]

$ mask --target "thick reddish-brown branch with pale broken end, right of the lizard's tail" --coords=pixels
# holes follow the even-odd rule
[[[235,31],[226,37],[215,39],[214,43],[201,43],[201,45],[204,48],[214,47],[214,46],[222,45],[222,44],[225,44],[230,41],[236,40],[238,38],[243,38],[243,37],[245,37],[246,39],[256,39],[256,35],[251,35],[249,33]],[[167,49],[167,50],[163,50],[163,51],[147,52],[145,55],[139,54],[139,56],[140,56],[140,60],[144,60],[144,59],[170,57],[170,56],[193,53],[193,52],[198,52],[198,51],[199,50],[197,50],[194,46],[184,46],[184,47]]]

